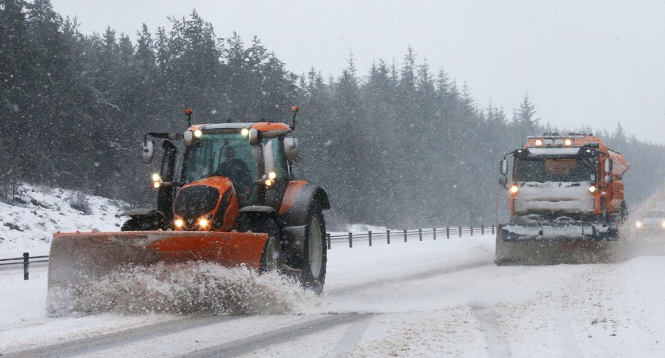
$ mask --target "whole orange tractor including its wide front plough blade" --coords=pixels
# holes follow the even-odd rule
[[[278,270],[321,293],[326,278],[330,208],[320,186],[295,179],[299,142],[292,123],[191,125],[181,133],[148,133],[143,161],[155,141],[163,149],[152,175],[157,208],[131,209],[120,232],[55,233],[48,298],[80,289],[117,267],[157,262],[217,262],[258,273]]]

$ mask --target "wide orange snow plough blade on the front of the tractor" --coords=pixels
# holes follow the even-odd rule
[[[124,231],[55,233],[48,259],[48,296],[80,287],[116,267],[157,262],[217,262],[260,270],[265,233]]]

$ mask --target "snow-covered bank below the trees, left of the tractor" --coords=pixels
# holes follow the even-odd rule
[[[118,200],[22,184],[0,201],[0,258],[48,255],[57,231],[120,231],[126,217],[116,215],[125,208]]]

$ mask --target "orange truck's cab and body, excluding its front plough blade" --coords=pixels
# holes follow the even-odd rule
[[[509,154],[510,185],[505,157],[499,183],[510,193],[511,224],[583,223],[592,227],[585,233],[617,237],[628,215],[621,180],[628,162],[621,154],[596,136],[574,133],[529,136]]]

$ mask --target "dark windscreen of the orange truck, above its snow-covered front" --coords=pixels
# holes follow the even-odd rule
[[[513,181],[596,181],[593,157],[515,158]]]

